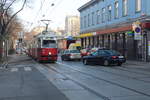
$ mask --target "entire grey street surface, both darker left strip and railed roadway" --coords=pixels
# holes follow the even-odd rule
[[[148,63],[104,67],[13,56],[0,80],[0,100],[150,100]]]

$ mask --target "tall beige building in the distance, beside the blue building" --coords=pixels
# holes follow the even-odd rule
[[[79,16],[66,16],[65,31],[67,36],[76,36],[80,32]]]

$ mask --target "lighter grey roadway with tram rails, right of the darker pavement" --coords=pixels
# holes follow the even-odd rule
[[[49,80],[69,100],[150,100],[148,65],[83,65],[79,61],[42,64]]]

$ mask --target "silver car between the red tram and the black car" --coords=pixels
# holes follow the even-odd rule
[[[81,53],[79,50],[65,50],[61,55],[62,60],[80,60]]]

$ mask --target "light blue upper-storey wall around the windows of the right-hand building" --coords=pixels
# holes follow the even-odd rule
[[[115,19],[114,18],[114,3],[115,1],[119,2],[119,18]],[[127,16],[123,16],[122,14],[122,0],[104,0],[103,1],[99,1],[97,3],[91,4],[89,7],[87,7],[86,9],[83,9],[80,12],[80,19],[82,18],[82,20],[80,21],[81,24],[83,25],[84,23],[84,16],[86,16],[86,23],[88,21],[88,14],[90,14],[90,24],[91,24],[91,13],[95,12],[97,10],[100,10],[100,23],[97,24],[96,23],[96,14],[94,15],[94,25],[86,25],[86,27],[81,27],[80,28],[80,32],[84,33],[84,32],[88,32],[88,31],[92,31],[92,30],[97,30],[97,29],[101,29],[101,28],[107,28],[108,26],[111,25],[115,25],[115,24],[121,24],[122,22],[131,22],[131,21],[135,21],[137,18],[140,18],[144,15],[150,16],[150,0],[141,0],[142,1],[142,7],[141,7],[141,11],[140,12],[136,12],[135,8],[135,0],[128,0],[128,14]],[[104,23],[102,23],[102,17],[101,17],[101,12],[102,12],[102,8],[107,8],[108,5],[112,6],[112,17],[111,17],[111,21],[105,21]],[[107,12],[107,9],[106,11]],[[106,15],[106,14],[105,14]],[[105,18],[107,17],[107,15],[105,16]]]

